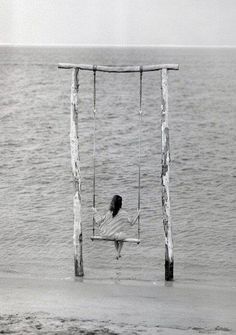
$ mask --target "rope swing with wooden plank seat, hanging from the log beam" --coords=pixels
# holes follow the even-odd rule
[[[139,68],[140,73],[140,89],[139,89],[139,163],[138,163],[138,204],[137,210],[140,210],[140,196],[141,196],[141,126],[142,126],[142,79],[143,79],[143,67]],[[94,120],[94,131],[93,131],[93,207],[96,208],[96,66],[93,67],[93,120]],[[137,238],[125,238],[122,242],[140,243],[140,215],[138,216],[138,231]],[[93,216],[93,235],[91,236],[92,241],[119,241],[118,239],[95,235],[95,219]]]

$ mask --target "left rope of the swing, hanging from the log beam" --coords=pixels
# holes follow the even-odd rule
[[[96,72],[93,66],[93,208],[96,208]],[[95,218],[93,215],[93,236],[95,235]]]

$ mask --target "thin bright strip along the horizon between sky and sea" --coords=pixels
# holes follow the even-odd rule
[[[58,47],[58,48],[236,48],[235,44],[21,44],[0,43],[0,47]]]

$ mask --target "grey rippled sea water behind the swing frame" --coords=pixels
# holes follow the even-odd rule
[[[169,73],[175,280],[235,285],[236,49],[0,48],[0,274],[73,278],[71,71],[58,62],[178,63]],[[160,74],[144,73],[141,239],[115,260],[91,242],[93,75],[80,73],[84,270],[88,280],[164,279]],[[97,75],[97,207],[136,212],[138,74]],[[136,236],[137,229],[130,230]]]

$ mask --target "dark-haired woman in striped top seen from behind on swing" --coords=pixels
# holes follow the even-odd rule
[[[128,217],[128,213],[121,209],[121,207],[122,197],[114,195],[111,200],[109,211],[104,216],[100,216],[97,210],[93,208],[94,220],[100,228],[101,235],[103,237],[115,239],[114,243],[117,251],[116,259],[121,257],[120,253],[124,244],[122,240],[126,238],[124,230],[127,227],[127,223],[133,226],[140,215],[140,210],[138,210],[136,216],[131,220]]]

